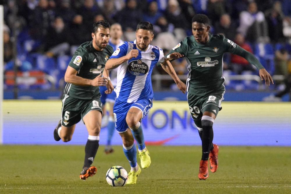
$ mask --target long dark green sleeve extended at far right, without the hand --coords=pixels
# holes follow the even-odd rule
[[[260,63],[260,61],[249,51],[246,51],[239,45],[235,44],[233,41],[223,37],[223,45],[226,52],[230,52],[245,58],[249,63],[255,65],[259,70],[265,69],[265,67]]]

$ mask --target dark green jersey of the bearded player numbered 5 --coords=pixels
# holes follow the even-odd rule
[[[103,72],[105,63],[112,53],[113,48],[110,45],[107,45],[102,51],[97,51],[93,47],[92,41],[85,42],[75,51],[69,66],[78,71],[77,76],[94,79]],[[72,83],[66,84],[64,93],[79,99],[92,99],[100,95],[99,87],[77,86]]]

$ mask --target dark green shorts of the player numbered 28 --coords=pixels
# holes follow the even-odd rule
[[[197,96],[188,93],[187,100],[192,119],[195,121],[201,120],[205,111],[209,111],[217,116],[218,111],[222,109],[221,101],[223,100],[223,92],[217,92],[207,96]],[[196,123],[196,122],[195,122]]]

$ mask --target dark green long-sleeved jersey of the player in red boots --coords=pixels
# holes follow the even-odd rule
[[[169,54],[173,52],[179,52],[185,56],[189,70],[187,92],[198,96],[225,90],[223,86],[225,78],[222,76],[222,57],[225,52],[246,58],[258,69],[264,68],[253,54],[223,35],[209,33],[209,40],[206,44],[200,44],[196,42],[194,36],[188,36]]]

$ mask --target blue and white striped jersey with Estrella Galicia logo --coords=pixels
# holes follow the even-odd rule
[[[136,47],[136,41],[124,42],[110,58],[120,58]],[[139,49],[138,49],[139,50]],[[117,68],[117,85],[114,91],[123,102],[136,102],[140,99],[152,99],[151,74],[157,63],[164,62],[164,52],[159,47],[148,46],[146,51],[139,50],[136,58],[131,58]]]

